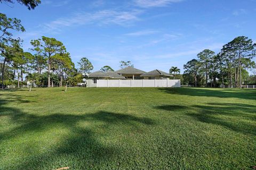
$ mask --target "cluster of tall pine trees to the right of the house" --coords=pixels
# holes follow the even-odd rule
[[[220,84],[242,87],[249,83],[249,72],[255,69],[253,57],[256,44],[248,37],[236,37],[224,45],[218,54],[205,49],[184,65],[183,81],[187,84],[218,87]]]

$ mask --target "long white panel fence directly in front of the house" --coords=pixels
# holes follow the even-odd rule
[[[180,80],[97,80],[97,87],[180,87]]]

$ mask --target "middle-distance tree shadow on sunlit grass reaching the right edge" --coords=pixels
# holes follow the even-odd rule
[[[222,126],[231,131],[256,135],[256,106],[249,104],[208,103],[190,107],[177,105],[161,105],[155,108],[174,111],[193,117],[195,120]]]

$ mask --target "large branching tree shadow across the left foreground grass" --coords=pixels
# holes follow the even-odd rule
[[[99,140],[99,137],[102,138],[101,132],[95,132],[93,127],[79,126],[78,123],[91,123],[102,131],[107,128],[116,128],[114,125],[119,124],[130,126],[134,130],[139,128],[140,124],[154,124],[149,118],[104,111],[79,115],[71,113],[28,114],[20,109],[4,105],[14,102],[15,97],[19,98],[21,103],[29,102],[15,95],[12,95],[11,99],[0,99],[0,117],[7,116],[12,123],[17,124],[16,128],[0,133],[0,143],[26,135],[44,133],[45,130],[56,128],[56,126],[68,129],[70,134],[63,137],[57,146],[51,147],[51,150],[24,157],[17,164],[2,167],[3,169],[57,169],[65,166],[70,166],[71,169],[99,169],[103,166],[118,169],[120,168],[118,165],[120,146],[102,143]],[[101,125],[97,126],[97,123]],[[0,155],[0,159],[3,159],[2,156]]]

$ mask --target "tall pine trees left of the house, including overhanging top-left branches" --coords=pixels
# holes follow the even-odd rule
[[[39,0],[17,0],[18,3],[28,7],[29,10],[41,3]],[[0,0],[0,3],[14,3],[12,0]],[[25,78],[37,85],[48,87],[62,86],[63,82],[69,81],[76,85],[81,82],[83,71],[89,72],[92,65],[83,67],[82,70],[75,69],[75,64],[71,61],[70,54],[61,41],[55,38],[42,37],[31,40],[33,48],[30,52],[22,49],[22,40],[13,38],[12,31],[24,32],[25,28],[17,18],[8,18],[0,13],[0,78],[2,84],[17,84],[18,87]],[[86,58],[82,58],[82,64]],[[90,63],[90,62],[89,62]],[[82,67],[82,66],[81,66]]]

